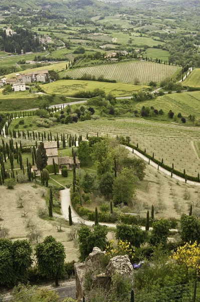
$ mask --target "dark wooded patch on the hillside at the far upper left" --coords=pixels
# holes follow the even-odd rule
[[[0,44],[4,46],[4,51],[21,54],[22,49],[24,52],[44,50],[38,37],[34,39],[34,34],[31,31],[17,28],[16,33],[17,34],[7,36],[6,31],[3,29],[0,30]]]

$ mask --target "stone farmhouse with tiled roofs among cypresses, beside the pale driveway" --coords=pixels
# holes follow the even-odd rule
[[[59,170],[62,169],[63,166],[66,166],[68,170],[73,169],[74,159],[69,156],[62,156],[62,150],[60,152],[60,157],[58,156],[58,147],[57,141],[45,141],[44,147],[46,149],[46,155],[48,157],[47,165],[53,165],[53,160],[55,164],[59,165]],[[76,157],[76,168],[80,168],[80,161]],[[33,171],[38,173],[37,166],[33,166]]]

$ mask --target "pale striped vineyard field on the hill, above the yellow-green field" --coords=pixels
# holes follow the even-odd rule
[[[133,60],[94,67],[68,69],[59,74],[60,78],[69,75],[73,79],[78,79],[87,73],[96,77],[103,75],[106,79],[116,80],[121,83],[132,84],[135,79],[138,79],[140,83],[148,84],[150,81],[160,82],[167,77],[171,77],[178,69],[179,67],[177,66]]]

